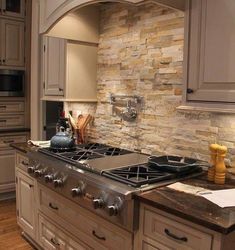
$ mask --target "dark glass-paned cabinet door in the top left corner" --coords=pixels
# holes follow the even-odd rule
[[[24,17],[24,0],[2,0],[2,14],[11,17]]]

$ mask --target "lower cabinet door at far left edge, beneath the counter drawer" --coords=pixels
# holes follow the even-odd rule
[[[15,189],[15,151],[5,150],[0,153],[0,193]]]

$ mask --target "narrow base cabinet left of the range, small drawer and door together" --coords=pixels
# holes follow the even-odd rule
[[[35,183],[26,170],[28,158],[20,154],[16,156],[16,200],[17,221],[20,227],[32,239],[35,239]]]

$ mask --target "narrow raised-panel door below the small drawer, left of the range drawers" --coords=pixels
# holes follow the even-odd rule
[[[34,218],[34,181],[20,171],[17,175],[18,222],[21,228],[32,238],[35,236]]]

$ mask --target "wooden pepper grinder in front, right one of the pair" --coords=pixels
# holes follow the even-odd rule
[[[215,183],[224,184],[226,175],[226,166],[224,163],[224,157],[227,153],[227,147],[219,146],[217,149],[217,161],[215,165]]]

